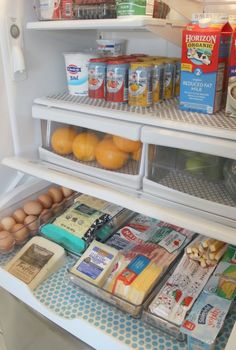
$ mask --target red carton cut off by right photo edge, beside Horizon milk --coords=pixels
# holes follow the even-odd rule
[[[226,116],[236,117],[236,20],[232,23],[233,35],[229,58]]]

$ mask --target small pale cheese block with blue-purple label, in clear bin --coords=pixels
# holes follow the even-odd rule
[[[113,269],[118,254],[116,249],[94,241],[70,272],[102,287]]]

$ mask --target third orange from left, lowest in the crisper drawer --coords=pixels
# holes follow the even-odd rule
[[[96,149],[96,159],[105,169],[117,170],[122,168],[128,157],[127,153],[116,147],[111,138],[103,139]]]

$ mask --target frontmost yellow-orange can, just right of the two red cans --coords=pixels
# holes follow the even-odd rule
[[[130,106],[148,107],[152,104],[152,69],[147,62],[131,63],[129,70]]]

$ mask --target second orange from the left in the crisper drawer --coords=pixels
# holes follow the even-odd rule
[[[99,143],[99,138],[92,132],[82,132],[74,139],[72,150],[74,156],[85,162],[95,159],[95,150]]]

